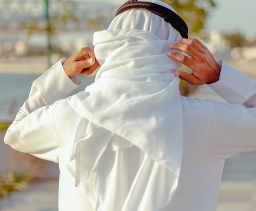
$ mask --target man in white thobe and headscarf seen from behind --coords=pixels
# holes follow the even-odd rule
[[[131,0],[94,34],[95,56],[86,48],[35,80],[5,142],[59,163],[60,211],[216,210],[224,160],[256,148],[255,108],[244,107],[256,84],[186,33],[170,6]],[[170,45],[191,58],[170,59]],[[95,83],[65,98],[95,59]],[[193,74],[175,73],[177,61]],[[241,105],[182,97],[175,75]]]

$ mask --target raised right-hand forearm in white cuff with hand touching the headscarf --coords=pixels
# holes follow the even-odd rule
[[[212,90],[231,104],[256,107],[256,83],[227,63],[217,63],[209,49],[197,39],[180,39],[167,55],[192,69],[192,73],[177,71],[175,75],[191,84],[208,84]]]

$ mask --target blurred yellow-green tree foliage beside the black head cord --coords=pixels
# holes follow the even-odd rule
[[[210,11],[216,7],[215,0],[163,0],[171,5],[189,27],[189,34],[204,29]]]

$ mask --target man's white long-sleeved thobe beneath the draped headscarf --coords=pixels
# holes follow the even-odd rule
[[[80,186],[75,187],[75,179],[67,170],[69,140],[90,126],[90,122],[81,117],[65,98],[78,86],[78,78],[70,80],[61,61],[56,63],[35,80],[28,100],[4,139],[18,151],[59,163],[60,211],[93,210],[86,193]],[[215,211],[225,159],[241,151],[256,149],[256,109],[253,108],[256,106],[256,84],[223,63],[220,80],[210,86],[227,102],[237,105],[181,97],[184,140],[179,184],[172,201],[163,211]],[[111,156],[105,151],[100,162],[104,162],[104,158],[111,159]],[[133,169],[140,163],[137,160],[140,150],[136,146],[122,148],[116,150],[115,156],[121,164],[123,160],[129,160],[129,165],[123,166],[131,172],[126,179],[134,177]],[[113,181],[108,178],[106,183]],[[114,183],[113,190],[118,190]],[[118,202],[111,203],[115,210]]]

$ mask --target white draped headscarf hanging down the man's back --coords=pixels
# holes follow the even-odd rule
[[[90,123],[72,142],[67,168],[95,210],[159,210],[172,199],[183,148],[179,78],[173,74],[181,64],[166,51],[180,38],[145,9],[125,11],[94,34],[101,64],[96,81],[68,98]]]

